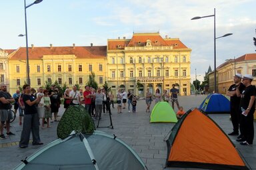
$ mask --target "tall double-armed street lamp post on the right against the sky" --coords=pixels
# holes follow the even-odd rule
[[[193,17],[191,20],[195,20],[195,19],[202,19],[202,18],[206,18],[206,17],[214,17],[214,91],[217,92],[217,78],[216,78],[216,39],[222,38],[222,37],[227,37],[229,35],[233,35],[232,33],[228,33],[225,34],[221,37],[217,37],[216,38],[216,24],[215,24],[215,9],[214,9],[214,14],[213,15],[207,15],[207,16],[203,16],[203,17]]]

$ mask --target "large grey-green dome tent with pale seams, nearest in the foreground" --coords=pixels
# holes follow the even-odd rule
[[[115,135],[94,131],[57,139],[27,157],[15,169],[145,170],[147,167],[137,153]]]

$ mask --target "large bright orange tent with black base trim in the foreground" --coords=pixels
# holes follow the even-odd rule
[[[167,140],[167,166],[248,169],[235,145],[209,116],[189,110]]]

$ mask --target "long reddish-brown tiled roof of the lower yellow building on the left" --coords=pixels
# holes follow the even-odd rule
[[[29,60],[38,60],[44,55],[75,55],[77,58],[105,58],[107,46],[45,46],[29,47]],[[10,56],[10,60],[25,60],[27,57],[26,48],[18,48]]]

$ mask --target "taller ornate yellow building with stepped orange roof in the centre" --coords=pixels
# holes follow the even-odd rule
[[[113,93],[118,88],[139,94],[136,84],[143,84],[143,94],[149,88],[170,90],[172,84],[180,94],[190,95],[190,54],[179,39],[165,39],[159,33],[134,33],[131,39],[107,41],[107,82]],[[142,94],[141,94],[142,95]]]

